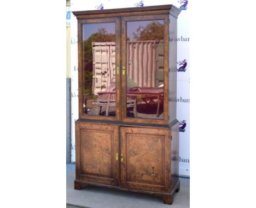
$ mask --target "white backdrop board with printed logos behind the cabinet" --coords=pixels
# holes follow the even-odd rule
[[[180,8],[177,34],[177,119],[180,121],[179,133],[179,175],[189,176],[189,4],[187,0],[145,0],[119,1],[71,0],[71,11],[116,9],[152,5],[173,4]],[[78,45],[77,19],[71,13],[71,162],[75,162],[75,128],[74,121],[78,119]]]

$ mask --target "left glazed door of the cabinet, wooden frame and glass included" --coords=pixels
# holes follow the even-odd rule
[[[79,118],[121,120],[120,18],[78,20]]]

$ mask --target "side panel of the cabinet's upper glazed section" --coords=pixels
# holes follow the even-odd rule
[[[177,99],[177,19],[169,15],[169,123],[176,119]]]

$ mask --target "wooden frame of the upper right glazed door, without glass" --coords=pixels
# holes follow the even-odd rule
[[[121,113],[122,121],[127,123],[147,123],[147,124],[168,124],[168,63],[169,63],[169,15],[145,15],[145,16],[125,16],[121,17],[121,42],[126,43],[126,22],[129,21],[148,21],[148,20],[164,20],[164,119],[141,119],[141,118],[128,118],[126,113],[126,91],[121,92]],[[122,44],[121,50],[121,67],[126,68],[126,44]],[[127,71],[121,74],[122,89],[125,90],[127,86]]]

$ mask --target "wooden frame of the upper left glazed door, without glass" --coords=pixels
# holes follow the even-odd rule
[[[103,17],[97,19],[78,20],[78,83],[79,83],[79,119],[121,121],[120,73],[116,74],[115,81],[115,117],[105,115],[85,115],[83,113],[83,24],[115,23],[115,68],[121,64],[121,17]]]

